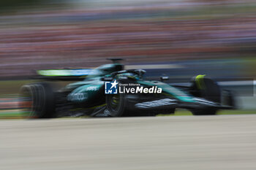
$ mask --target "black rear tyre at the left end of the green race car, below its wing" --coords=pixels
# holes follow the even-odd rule
[[[53,88],[46,82],[23,85],[20,89],[21,107],[28,118],[55,117],[55,97]],[[24,101],[29,107],[24,107]]]

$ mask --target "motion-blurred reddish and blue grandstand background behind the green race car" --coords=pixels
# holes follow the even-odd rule
[[[206,74],[235,89],[241,109],[256,109],[253,0],[9,0],[0,13],[1,117],[17,115],[18,90],[34,70],[105,58],[149,65],[148,79]]]

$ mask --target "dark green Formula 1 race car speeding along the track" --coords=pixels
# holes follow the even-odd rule
[[[56,88],[47,81],[23,85],[20,89],[23,113],[30,118],[154,116],[184,108],[193,115],[215,115],[219,109],[236,107],[233,93],[222,90],[217,82],[204,75],[192,77],[187,86],[170,85],[165,82],[168,77],[159,77],[160,81],[143,80],[144,70],[124,70],[123,64],[113,61],[86,69],[85,77],[79,70],[75,76],[82,76],[83,80],[64,88]],[[48,74],[50,79],[74,75],[63,74],[64,70],[61,74],[57,73],[60,70],[50,72],[53,71],[54,75]]]

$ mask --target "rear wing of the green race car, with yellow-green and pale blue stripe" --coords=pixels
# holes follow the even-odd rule
[[[35,79],[45,80],[83,80],[93,69],[42,69],[37,70]]]

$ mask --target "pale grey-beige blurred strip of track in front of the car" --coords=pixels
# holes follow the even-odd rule
[[[256,115],[1,120],[0,169],[256,169]]]

